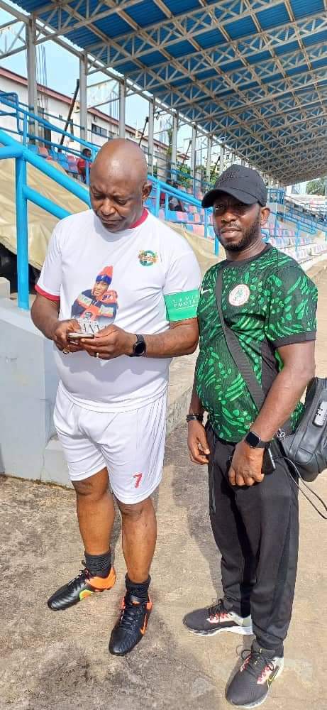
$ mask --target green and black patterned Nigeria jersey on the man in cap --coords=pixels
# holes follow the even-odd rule
[[[223,315],[266,393],[282,368],[277,349],[316,338],[317,289],[294,259],[270,245],[254,258],[215,264],[204,275],[196,392],[216,435],[239,442],[257,417],[257,408],[226,346],[216,307],[218,269],[223,269]],[[292,415],[294,426],[301,410],[299,403]]]

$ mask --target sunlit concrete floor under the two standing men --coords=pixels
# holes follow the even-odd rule
[[[327,275],[318,277],[318,374],[326,375]],[[327,476],[314,484],[327,499]],[[206,469],[189,462],[182,425],[167,442],[156,498],[155,603],[148,632],[131,655],[108,654],[123,595],[125,566],[117,519],[118,581],[110,593],[63,613],[46,599],[77,574],[82,545],[70,490],[0,477],[0,709],[226,710],[228,679],[250,638],[199,638],[184,613],[221,594],[219,560],[207,515]],[[301,501],[301,548],[285,670],[267,710],[326,710],[326,523]]]

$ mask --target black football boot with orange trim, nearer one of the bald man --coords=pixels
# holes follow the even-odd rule
[[[124,656],[139,643],[148,626],[153,604],[126,591],[121,606],[121,615],[111,631],[109,651],[114,656]]]

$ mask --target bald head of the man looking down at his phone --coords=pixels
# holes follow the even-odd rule
[[[106,229],[118,232],[137,222],[150,190],[145,155],[136,143],[116,138],[102,146],[90,173],[90,197]]]

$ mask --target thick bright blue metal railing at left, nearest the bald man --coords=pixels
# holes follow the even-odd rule
[[[40,170],[43,175],[55,180],[58,185],[61,185],[78,197],[79,200],[90,206],[89,192],[82,186],[80,182],[72,180],[60,173],[59,170],[49,165],[46,160],[29,151],[26,146],[14,141],[11,136],[8,136],[4,131],[0,131],[0,160],[14,158],[16,163],[16,233],[17,233],[17,277],[18,277],[18,306],[23,309],[29,308],[28,296],[28,200],[37,204],[38,207],[45,209],[50,214],[53,214],[57,219],[67,217],[70,212],[63,209],[59,205],[49,200],[48,197],[41,195],[40,192],[33,190],[27,185],[26,180],[26,163],[33,165],[34,168]]]

